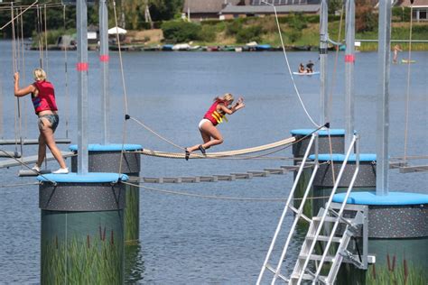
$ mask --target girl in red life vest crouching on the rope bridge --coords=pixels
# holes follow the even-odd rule
[[[191,152],[199,150],[205,154],[205,150],[209,149],[209,147],[223,142],[223,136],[217,129],[217,125],[223,121],[228,121],[226,115],[232,115],[246,106],[243,97],[239,97],[234,106],[232,106],[233,100],[234,97],[230,93],[214,98],[214,103],[209,107],[199,124],[203,143],[185,149],[186,161],[189,160]]]

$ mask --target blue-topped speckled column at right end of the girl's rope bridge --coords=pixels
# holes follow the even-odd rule
[[[293,130],[291,133],[296,138],[296,142],[293,144],[293,157],[294,159],[302,159],[304,152],[308,148],[309,142],[311,141],[311,134],[313,129],[299,129]],[[343,153],[344,152],[344,143],[345,143],[345,130],[330,129],[326,131],[319,131],[318,133],[318,143],[319,143],[319,153],[330,153],[330,142],[332,152]],[[311,154],[315,153],[315,143],[312,145]],[[295,160],[294,165],[297,165],[300,160]],[[297,171],[294,172],[294,179]],[[301,179],[297,184],[297,187],[294,191],[293,206],[300,207],[300,199],[304,195],[304,191],[308,187],[309,179],[311,179],[312,168],[306,168],[302,172]],[[303,207],[303,214],[309,217],[312,217],[312,208],[313,208],[313,190],[308,196]]]

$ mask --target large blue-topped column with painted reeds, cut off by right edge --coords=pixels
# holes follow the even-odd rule
[[[348,203],[368,205],[368,255],[376,262],[367,271],[343,266],[338,284],[428,284],[428,195],[373,189],[351,193]]]

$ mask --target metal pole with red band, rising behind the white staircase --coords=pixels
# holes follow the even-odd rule
[[[354,136],[354,63],[355,63],[355,2],[346,3],[346,51],[345,51],[345,150],[349,149]]]

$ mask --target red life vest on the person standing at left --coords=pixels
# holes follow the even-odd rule
[[[55,102],[55,91],[51,82],[46,80],[36,81],[33,83],[33,86],[39,90],[37,97],[33,97],[32,95],[35,113],[39,114],[46,110],[58,111],[58,107]]]

